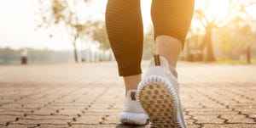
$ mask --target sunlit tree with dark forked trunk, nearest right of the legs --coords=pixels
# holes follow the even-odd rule
[[[213,0],[212,0],[213,1]],[[247,1],[239,1],[239,0],[229,0],[228,3],[228,13],[226,13],[221,19],[218,19],[218,15],[214,14],[207,14],[210,12],[209,6],[211,4],[210,0],[205,1],[205,5],[203,8],[195,8],[195,20],[199,20],[201,25],[205,31],[204,40],[201,42],[200,49],[207,49],[207,57],[206,61],[214,61],[214,51],[212,47],[212,30],[224,27],[225,25],[229,25],[232,23],[237,17],[243,19],[251,19],[251,17],[247,14],[247,9],[250,6],[255,5],[253,0]],[[221,3],[220,3],[221,4]],[[215,9],[218,9],[214,7]]]

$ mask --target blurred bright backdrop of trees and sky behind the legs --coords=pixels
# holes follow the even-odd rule
[[[0,0],[0,64],[113,60],[104,23],[107,2]],[[154,53],[151,0],[141,5],[148,59]],[[256,64],[256,0],[195,0],[180,60]]]

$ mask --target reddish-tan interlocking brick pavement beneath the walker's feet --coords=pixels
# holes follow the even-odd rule
[[[256,65],[177,70],[189,128],[256,127]],[[116,73],[113,62],[0,65],[0,127],[136,127],[119,123],[125,88]]]

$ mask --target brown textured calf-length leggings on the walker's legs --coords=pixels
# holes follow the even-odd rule
[[[194,0],[152,0],[154,38],[172,36],[184,44],[194,3]],[[119,75],[141,74],[143,21],[140,0],[108,0],[106,26]]]

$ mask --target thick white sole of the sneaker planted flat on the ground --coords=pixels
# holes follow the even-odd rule
[[[148,118],[145,118],[145,115],[142,114],[123,112],[120,114],[119,120],[121,123],[127,125],[145,125]]]

